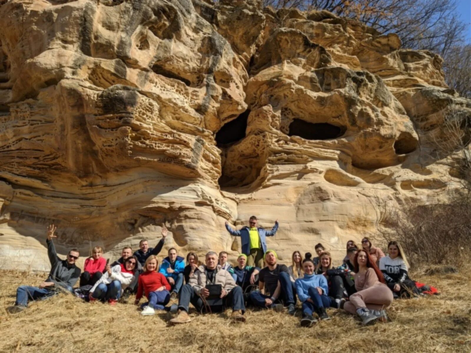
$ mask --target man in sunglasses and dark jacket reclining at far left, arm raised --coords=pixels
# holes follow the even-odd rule
[[[51,271],[46,281],[42,282],[39,287],[21,286],[16,289],[16,303],[10,306],[10,313],[19,313],[26,308],[28,300],[36,300],[40,298],[51,297],[60,290],[72,292],[72,287],[78,281],[80,276],[80,268],[75,265],[75,261],[79,258],[79,250],[71,249],[67,254],[66,260],[61,260],[57,256],[54,247],[53,238],[57,238],[54,233],[57,227],[49,225],[47,228],[46,244],[48,245],[48,257],[51,264]]]

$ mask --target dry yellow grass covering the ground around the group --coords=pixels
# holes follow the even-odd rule
[[[85,303],[72,295],[31,303],[22,313],[5,308],[16,287],[37,285],[43,273],[0,271],[0,352],[471,352],[471,284],[468,271],[420,276],[441,295],[398,300],[392,322],[362,327],[330,309],[331,321],[301,328],[299,317],[248,311],[246,323],[222,314],[195,315],[169,326],[170,313],[142,317],[134,305]]]

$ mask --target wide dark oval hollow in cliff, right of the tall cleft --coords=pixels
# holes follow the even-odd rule
[[[289,126],[288,136],[299,136],[306,140],[330,140],[341,137],[347,128],[335,126],[326,122],[307,122],[293,119]]]

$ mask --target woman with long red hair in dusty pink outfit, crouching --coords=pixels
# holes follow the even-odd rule
[[[385,307],[392,303],[392,292],[386,284],[381,271],[366,250],[359,250],[355,256],[355,288],[357,293],[349,297],[343,309],[351,314],[357,313],[364,325],[376,320],[387,321]]]

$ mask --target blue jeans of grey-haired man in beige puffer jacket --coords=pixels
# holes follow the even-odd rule
[[[190,303],[193,304],[198,312],[202,311],[204,306],[203,300],[195,293],[195,290],[192,286],[185,284],[181,288],[178,307],[179,309],[183,309],[188,312]],[[242,288],[235,286],[233,289],[231,289],[229,294],[223,298],[223,306],[232,306],[232,310],[242,310],[242,312],[245,312],[244,294],[242,292]]]

